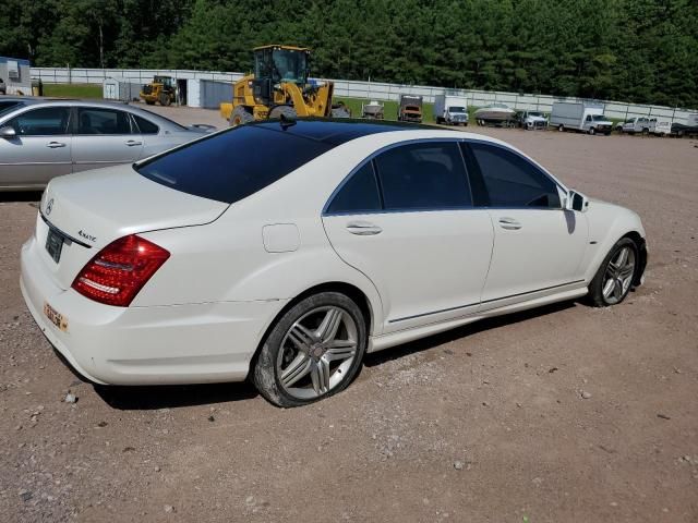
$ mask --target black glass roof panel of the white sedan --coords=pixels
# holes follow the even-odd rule
[[[327,145],[337,146],[362,136],[394,131],[436,130],[432,125],[405,122],[366,121],[357,119],[308,118],[296,121],[266,120],[250,123],[262,129],[284,131],[294,136],[314,139]],[[443,129],[442,129],[443,130]],[[454,131],[449,131],[454,132]]]

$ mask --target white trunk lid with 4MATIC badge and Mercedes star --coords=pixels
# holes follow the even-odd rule
[[[228,206],[160,185],[131,166],[60,177],[41,198],[37,248],[55,282],[68,289],[85,264],[112,241],[209,223]]]

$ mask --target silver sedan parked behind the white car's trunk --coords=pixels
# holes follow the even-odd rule
[[[26,98],[0,108],[0,191],[43,188],[55,177],[130,163],[213,130],[127,104]]]

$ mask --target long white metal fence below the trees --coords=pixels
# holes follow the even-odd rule
[[[177,80],[200,78],[219,82],[236,82],[243,73],[225,73],[219,71],[189,71],[172,69],[68,69],[68,68],[32,68],[32,77],[50,84],[101,84],[106,78],[117,77],[145,84],[154,75],[167,75]],[[448,89],[425,85],[399,85],[378,82],[359,82],[336,80],[335,95],[349,98],[374,100],[398,100],[401,94],[421,95],[424,101],[433,102],[436,95],[461,96],[469,106],[482,107],[490,104],[506,104],[519,110],[537,110],[550,112],[554,101],[578,101],[577,98],[555,97],[550,95],[522,95],[492,90]],[[651,117],[686,123],[689,113],[698,110],[626,104],[622,101],[599,100],[604,104],[604,113],[609,118],[627,120],[633,117]]]

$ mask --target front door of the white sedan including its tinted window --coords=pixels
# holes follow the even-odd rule
[[[465,151],[476,206],[488,209],[494,227],[483,307],[583,284],[587,219],[562,208],[556,182],[506,147],[472,142]]]

